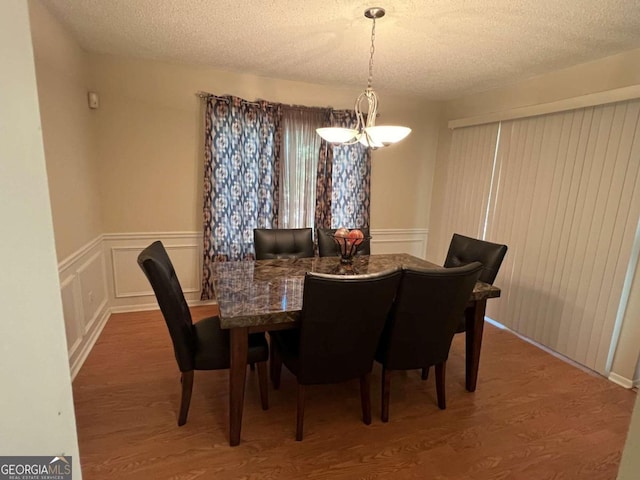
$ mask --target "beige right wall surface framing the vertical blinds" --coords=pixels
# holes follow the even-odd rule
[[[451,131],[450,120],[475,117],[495,112],[556,102],[597,92],[606,92],[624,87],[640,85],[640,49],[607,57],[548,75],[531,78],[509,87],[449,101],[443,105],[443,120],[440,125],[433,205],[429,224],[430,241],[427,258],[442,261],[444,245],[448,239],[438,236],[441,212],[437,206],[443,198],[443,168],[448,156]],[[440,167],[440,168],[439,168]],[[634,288],[622,324],[622,333],[617,345],[612,373],[626,379],[634,379],[640,354],[640,268],[635,271]],[[637,378],[635,378],[637,380]]]

